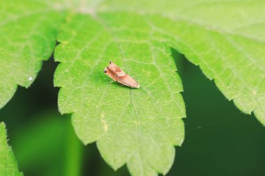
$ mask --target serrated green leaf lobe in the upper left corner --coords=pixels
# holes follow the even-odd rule
[[[1,1],[0,108],[13,97],[17,85],[29,87],[43,60],[54,50],[63,15],[41,1]]]

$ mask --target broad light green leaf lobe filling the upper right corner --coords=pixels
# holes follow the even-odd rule
[[[153,29],[265,125],[264,1],[105,1],[100,10],[156,14]]]

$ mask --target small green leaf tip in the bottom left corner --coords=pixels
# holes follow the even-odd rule
[[[23,175],[19,172],[11,147],[8,146],[6,126],[0,123],[0,175]]]

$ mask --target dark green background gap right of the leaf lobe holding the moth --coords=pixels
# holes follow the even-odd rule
[[[187,117],[169,175],[265,175],[265,128],[229,102],[199,67],[173,51]]]

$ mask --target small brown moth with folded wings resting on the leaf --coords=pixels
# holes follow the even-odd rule
[[[128,86],[130,88],[139,88],[140,85],[130,77],[126,72],[123,72],[120,67],[118,67],[115,63],[112,63],[112,61],[109,61],[109,66],[105,67],[104,69],[105,74],[109,76],[114,81],[118,81],[119,83]]]

